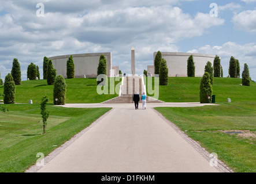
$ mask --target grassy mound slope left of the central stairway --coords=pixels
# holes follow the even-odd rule
[[[115,81],[118,93],[110,94],[110,78],[108,78],[108,93],[99,95],[97,93],[96,78],[76,78],[66,79],[66,103],[100,103],[108,99],[117,97],[121,85],[120,81]],[[113,89],[113,87],[111,87]],[[0,94],[3,93],[3,86],[0,86]],[[16,103],[28,103],[32,99],[34,104],[40,104],[43,95],[49,96],[49,104],[53,104],[53,85],[48,86],[46,80],[22,81],[21,85],[16,86]],[[0,97],[2,99],[3,97]]]

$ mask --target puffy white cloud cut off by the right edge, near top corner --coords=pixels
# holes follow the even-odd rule
[[[256,33],[256,10],[246,10],[232,18],[236,29]]]

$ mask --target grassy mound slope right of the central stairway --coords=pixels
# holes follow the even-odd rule
[[[147,86],[154,89],[153,86]],[[159,99],[164,102],[199,102],[200,77],[169,77],[168,86],[159,86]],[[216,102],[256,101],[256,83],[251,86],[240,86],[242,79],[214,78],[213,94]],[[147,81],[147,78],[146,80]],[[147,83],[147,82],[146,82]],[[150,95],[147,90],[147,95]],[[153,95],[151,95],[153,96]]]

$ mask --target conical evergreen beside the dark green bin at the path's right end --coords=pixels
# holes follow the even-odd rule
[[[200,103],[207,104],[212,101],[213,89],[210,82],[210,74],[205,72],[200,83]],[[210,97],[210,98],[209,98]]]

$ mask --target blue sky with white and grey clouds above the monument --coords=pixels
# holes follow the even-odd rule
[[[154,52],[190,52],[220,56],[224,77],[233,56],[256,81],[256,0],[0,0],[2,79],[14,58],[25,81],[31,62],[43,78],[44,56],[94,52],[128,74],[132,47],[137,74]]]

